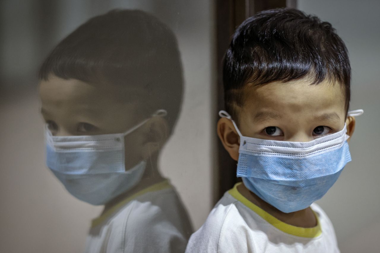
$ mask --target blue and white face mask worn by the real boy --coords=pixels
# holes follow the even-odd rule
[[[356,116],[363,110],[349,112]],[[220,111],[221,117],[231,116]],[[346,125],[309,142],[272,141],[240,136],[237,177],[259,198],[282,212],[309,207],[322,198],[351,161]]]

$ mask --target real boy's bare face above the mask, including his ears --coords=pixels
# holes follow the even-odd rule
[[[237,120],[242,135],[308,142],[342,130],[346,122],[342,87],[327,80],[309,84],[303,79],[246,88]],[[355,121],[353,117],[348,118],[347,134],[351,135]],[[218,135],[231,157],[237,160],[239,136],[230,120],[219,120]]]

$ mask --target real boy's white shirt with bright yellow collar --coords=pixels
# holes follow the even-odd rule
[[[186,253],[339,253],[331,221],[317,204],[311,205],[317,226],[300,228],[250,202],[237,191],[237,185],[190,237]]]

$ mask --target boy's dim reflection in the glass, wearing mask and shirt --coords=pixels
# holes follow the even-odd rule
[[[138,10],[93,17],[39,76],[47,166],[73,196],[105,205],[86,252],[184,252],[192,226],[158,170],[183,90],[169,28]]]

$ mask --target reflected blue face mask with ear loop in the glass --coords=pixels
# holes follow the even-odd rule
[[[164,116],[158,110],[153,116]],[[76,198],[102,205],[130,190],[141,180],[146,161],[125,168],[125,133],[85,136],[52,136],[46,127],[46,164]]]

